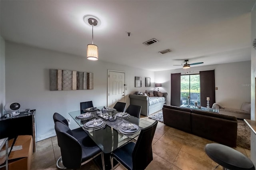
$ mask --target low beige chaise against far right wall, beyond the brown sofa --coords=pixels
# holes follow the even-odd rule
[[[241,109],[227,108],[219,103],[214,103],[212,108],[219,109],[219,113],[222,115],[235,116],[239,119],[251,119],[251,103],[243,103]]]

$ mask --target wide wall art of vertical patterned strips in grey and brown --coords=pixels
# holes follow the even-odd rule
[[[50,69],[50,90],[91,90],[93,73]]]

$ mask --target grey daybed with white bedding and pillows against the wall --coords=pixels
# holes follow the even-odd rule
[[[147,93],[148,91],[146,91]],[[152,113],[162,110],[166,103],[167,93],[162,93],[162,97],[148,95],[129,95],[130,104],[141,106],[141,115],[148,116]]]

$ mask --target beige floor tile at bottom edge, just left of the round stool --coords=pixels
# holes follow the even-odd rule
[[[182,170],[210,170],[211,162],[180,151],[173,164]]]

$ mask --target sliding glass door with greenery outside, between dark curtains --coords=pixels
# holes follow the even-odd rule
[[[190,105],[197,102],[200,105],[200,75],[181,75],[180,76],[180,105],[188,104],[190,96]]]

